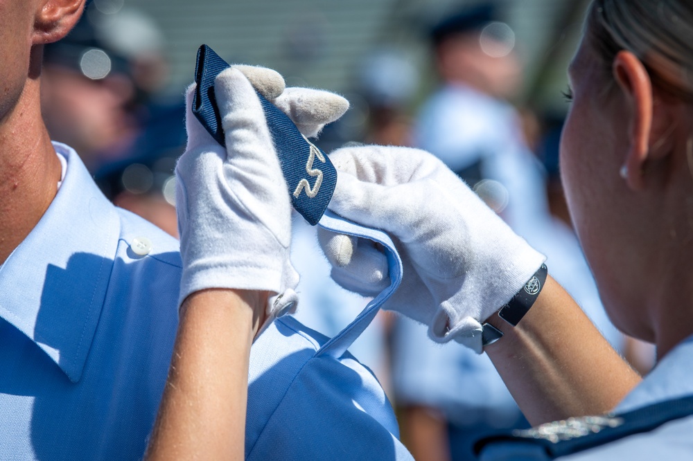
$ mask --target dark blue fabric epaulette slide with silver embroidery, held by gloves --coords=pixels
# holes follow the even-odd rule
[[[228,67],[229,64],[209,46],[200,46],[195,63],[197,88],[193,97],[193,114],[223,146],[226,145],[226,140],[214,97],[214,80]],[[257,94],[265,111],[284,179],[288,184],[291,204],[308,223],[315,226],[325,213],[337,186],[337,170],[328,156],[308,141],[286,114],[260,93]]]

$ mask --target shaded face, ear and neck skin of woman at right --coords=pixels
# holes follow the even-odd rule
[[[692,110],[653,86],[632,53],[609,66],[589,39],[569,78],[561,172],[570,213],[609,316],[661,357],[693,332]]]

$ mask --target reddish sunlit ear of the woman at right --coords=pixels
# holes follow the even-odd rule
[[[642,170],[649,155],[652,135],[652,83],[644,65],[630,51],[620,51],[613,60],[613,76],[629,106],[629,149],[624,166],[626,182],[633,190],[642,190]]]

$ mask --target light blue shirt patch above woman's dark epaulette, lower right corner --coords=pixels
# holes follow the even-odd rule
[[[690,361],[693,356],[693,336],[671,350],[656,367],[616,407],[623,413],[658,401],[693,395]]]

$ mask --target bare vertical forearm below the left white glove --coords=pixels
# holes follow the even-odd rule
[[[206,290],[184,302],[148,460],[243,460],[252,338],[266,294]]]

